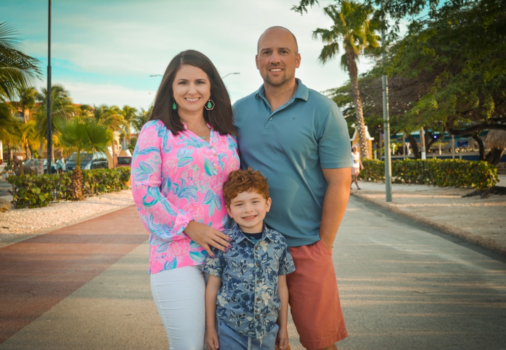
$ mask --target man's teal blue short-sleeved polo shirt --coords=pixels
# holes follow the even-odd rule
[[[272,205],[265,222],[290,247],[320,239],[327,189],[321,168],[351,167],[350,136],[341,110],[296,80],[296,93],[276,111],[263,85],[233,106],[241,167],[260,170],[267,178]]]

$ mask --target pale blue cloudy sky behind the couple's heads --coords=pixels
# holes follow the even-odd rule
[[[329,29],[323,12],[333,1],[301,15],[299,0],[52,0],[52,83],[62,84],[74,103],[124,105],[147,110],[161,76],[181,51],[202,52],[215,64],[232,103],[256,91],[262,78],[255,65],[257,41],[268,27],[280,25],[296,37],[301,66],[296,72],[308,87],[323,92],[348,79],[340,57],[324,65],[316,28]],[[48,0],[1,0],[0,22],[14,27],[21,50],[40,61],[47,87]],[[359,62],[359,74],[371,66]],[[238,73],[238,74],[233,74]],[[155,75],[155,76],[152,76]]]

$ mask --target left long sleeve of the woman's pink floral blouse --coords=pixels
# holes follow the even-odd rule
[[[161,192],[164,130],[155,122],[147,122],[141,132],[132,157],[132,196],[146,229],[165,241],[182,239],[183,231],[192,217],[171,203]],[[165,133],[166,134],[166,133]]]

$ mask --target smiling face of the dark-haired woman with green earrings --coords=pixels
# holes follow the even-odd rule
[[[201,113],[211,96],[211,84],[207,74],[200,68],[182,65],[172,85],[174,99],[180,116]]]

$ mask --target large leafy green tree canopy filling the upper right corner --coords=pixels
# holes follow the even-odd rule
[[[485,159],[480,133],[506,129],[506,41],[498,40],[505,23],[506,4],[482,0],[428,19],[396,43],[387,68],[409,97],[403,117],[418,127],[472,137]]]

